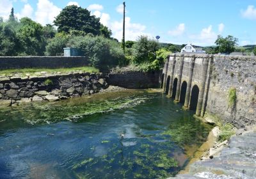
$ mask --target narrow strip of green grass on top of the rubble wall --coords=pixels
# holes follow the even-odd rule
[[[23,68],[23,69],[8,69],[8,70],[0,70],[0,75],[14,75],[14,74],[22,74],[22,76],[29,75],[36,75],[36,72],[47,72],[47,73],[54,73],[54,72],[75,72],[75,71],[83,71],[83,72],[95,72],[98,73],[99,69],[94,68],[92,66],[82,66],[82,67],[74,67],[74,68]]]

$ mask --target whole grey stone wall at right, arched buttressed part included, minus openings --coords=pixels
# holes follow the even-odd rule
[[[204,116],[205,112],[215,114],[239,128],[256,124],[256,57],[172,54],[162,78],[163,91],[170,96],[175,91],[175,79],[177,102],[182,82],[188,84],[184,100],[187,108],[195,99],[193,87],[198,87],[197,116]],[[230,105],[228,95],[232,88],[236,90],[234,105]]]

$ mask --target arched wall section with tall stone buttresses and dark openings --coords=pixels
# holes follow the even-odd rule
[[[184,107],[203,116],[209,91],[212,56],[172,54],[166,61],[161,88]]]

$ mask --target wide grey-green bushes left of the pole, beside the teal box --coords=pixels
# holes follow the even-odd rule
[[[125,60],[119,43],[102,36],[75,36],[68,46],[83,51],[90,63],[98,68],[120,65]]]

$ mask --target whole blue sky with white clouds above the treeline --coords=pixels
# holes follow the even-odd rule
[[[42,25],[52,24],[70,4],[87,8],[122,39],[122,0],[0,0],[0,16],[29,17]],[[256,0],[126,0],[125,40],[140,35],[159,42],[214,45],[218,35],[232,35],[239,45],[256,44]]]

